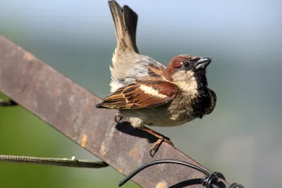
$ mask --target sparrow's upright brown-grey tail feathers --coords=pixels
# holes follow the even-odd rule
[[[109,1],[109,7],[116,27],[116,54],[124,51],[139,53],[136,46],[137,14],[129,6],[121,8],[116,1]]]

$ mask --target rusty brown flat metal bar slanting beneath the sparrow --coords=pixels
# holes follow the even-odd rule
[[[166,143],[152,158],[148,141],[156,141],[154,137],[126,123],[116,125],[116,111],[95,108],[101,99],[1,35],[0,91],[124,175],[164,158],[204,168]],[[142,187],[185,187],[199,182],[202,176],[183,166],[164,164],[142,171],[133,180]],[[195,180],[183,182],[189,179]]]

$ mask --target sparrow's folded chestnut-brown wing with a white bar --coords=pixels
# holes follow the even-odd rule
[[[163,80],[136,80],[107,96],[97,108],[137,109],[166,104],[178,94],[176,84]]]

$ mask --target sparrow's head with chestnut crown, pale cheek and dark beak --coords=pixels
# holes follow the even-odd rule
[[[175,56],[164,70],[164,77],[186,91],[206,87],[206,68],[211,62],[211,58],[192,55]]]

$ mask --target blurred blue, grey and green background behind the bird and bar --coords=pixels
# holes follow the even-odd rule
[[[214,112],[154,130],[228,182],[282,187],[282,2],[118,3],[139,15],[142,54],[165,65],[178,54],[213,59]],[[116,36],[107,1],[1,0],[0,34],[98,96],[109,94]],[[97,159],[21,107],[0,108],[0,154]],[[0,187],[118,187],[122,178],[113,168],[0,163]]]

